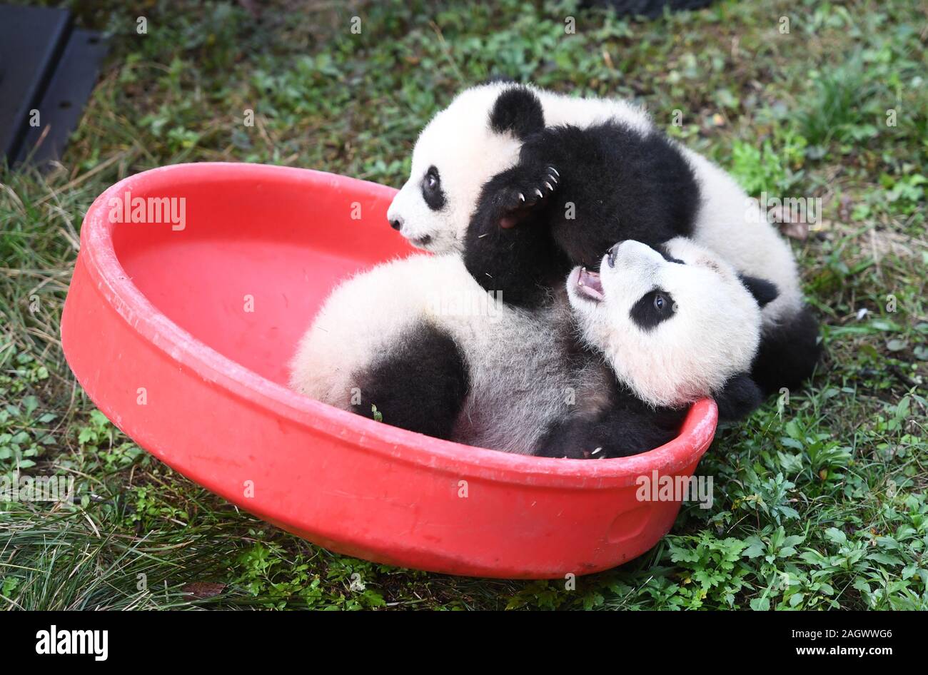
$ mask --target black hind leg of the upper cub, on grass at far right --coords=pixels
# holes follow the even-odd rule
[[[787,323],[766,327],[760,349],[754,357],[751,376],[767,395],[784,387],[798,388],[812,375],[820,356],[818,321],[804,307]]]

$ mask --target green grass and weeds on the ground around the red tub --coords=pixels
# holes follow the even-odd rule
[[[255,21],[232,3],[148,2],[138,34],[121,3],[74,4],[113,34],[84,120],[53,171],[0,172],[0,475],[73,477],[79,497],[0,504],[0,605],[928,608],[921,3],[728,1],[651,22],[570,2],[333,5],[280,0]],[[651,552],[575,591],[449,578],[284,534],[94,409],[58,317],[106,186],[214,159],[400,185],[420,126],[498,73],[636,98],[752,194],[822,198],[823,223],[793,248],[827,356],[802,391],[720,431],[699,469],[711,509],[685,505]]]

